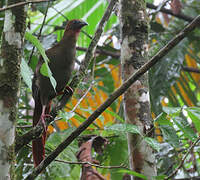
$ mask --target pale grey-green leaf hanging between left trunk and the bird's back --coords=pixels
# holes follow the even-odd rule
[[[29,69],[28,64],[26,63],[26,61],[22,58],[22,62],[21,62],[21,76],[24,80],[24,82],[26,83],[26,85],[29,87],[29,89],[32,88],[32,73]]]

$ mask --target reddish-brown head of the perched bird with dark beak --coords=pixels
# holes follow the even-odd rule
[[[79,19],[73,19],[71,21],[68,21],[65,32],[69,34],[76,34],[78,35],[80,33],[80,30],[82,27],[88,25],[86,22],[79,20]]]

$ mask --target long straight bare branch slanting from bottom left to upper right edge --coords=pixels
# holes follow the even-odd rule
[[[111,1],[112,2],[112,1]],[[200,24],[200,15],[197,16],[190,24],[188,24],[179,34],[177,34],[172,40],[170,40],[153,58],[145,63],[139,70],[137,70],[129,79],[127,79],[117,90],[115,90],[107,100],[99,106],[89,117],[83,122],[76,130],[74,130],[58,147],[45,158],[40,165],[30,174],[26,179],[32,180],[38,176],[38,174],[44,170],[71,142],[76,139],[84,130],[89,127],[93,121],[103,113],[119,96],[121,96],[138,78],[146,73],[152,66],[162,60],[172,48],[174,48],[182,39],[186,37],[188,33],[195,29]],[[95,39],[95,38],[94,38]],[[91,52],[91,51],[88,51]],[[91,53],[92,55],[92,53]],[[90,56],[86,56],[90,57]],[[90,57],[91,58],[91,57]]]

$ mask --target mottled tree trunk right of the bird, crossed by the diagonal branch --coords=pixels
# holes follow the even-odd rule
[[[122,79],[125,81],[147,61],[148,17],[145,0],[120,0],[120,30]],[[123,105],[126,123],[137,125],[144,136],[150,136],[153,122],[147,74],[124,94]],[[128,149],[133,171],[146,175],[148,179],[156,175],[153,150],[144,137],[128,134]]]

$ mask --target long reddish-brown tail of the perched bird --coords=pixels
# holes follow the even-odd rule
[[[40,98],[35,99],[35,109],[33,114],[33,126],[36,126],[39,122],[42,114],[42,104]],[[42,136],[32,141],[32,152],[34,166],[37,167],[40,162],[45,158],[45,141],[46,131],[43,132]]]

